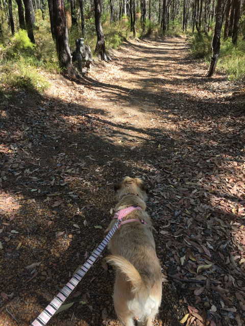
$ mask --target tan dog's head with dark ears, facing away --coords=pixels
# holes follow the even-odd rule
[[[114,186],[117,199],[120,200],[126,194],[138,195],[143,201],[147,200],[148,187],[139,178],[125,177]]]

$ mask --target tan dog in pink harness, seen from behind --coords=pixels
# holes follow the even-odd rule
[[[125,326],[151,326],[162,296],[162,275],[152,234],[152,222],[145,212],[146,187],[138,178],[126,177],[115,187],[118,203],[115,211],[139,206],[125,216],[137,221],[122,225],[109,242],[112,256],[107,262],[116,268],[114,306],[118,319]],[[144,221],[143,224],[142,222]],[[115,220],[109,226],[111,228]]]

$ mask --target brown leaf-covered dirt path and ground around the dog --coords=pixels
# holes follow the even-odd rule
[[[85,84],[47,76],[0,105],[0,324],[26,326],[104,237],[113,183],[150,185],[165,282],[154,325],[245,319],[244,92],[185,39],[130,41]],[[105,253],[106,254],[106,253]],[[50,325],[118,325],[102,260]]]

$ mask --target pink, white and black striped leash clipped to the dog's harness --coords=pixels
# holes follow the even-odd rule
[[[31,326],[45,326],[46,323],[54,316],[56,311],[65,302],[70,293],[76,288],[78,283],[82,280],[89,268],[93,265],[95,260],[100,256],[103,250],[106,248],[113,234],[116,232],[120,224],[120,221],[116,221],[113,228],[107,233],[104,240],[99,246],[92,252],[89,258],[85,261],[81,268],[74,274],[68,283],[60,290],[60,292],[54,297],[50,304],[40,313],[40,315],[31,323]]]

